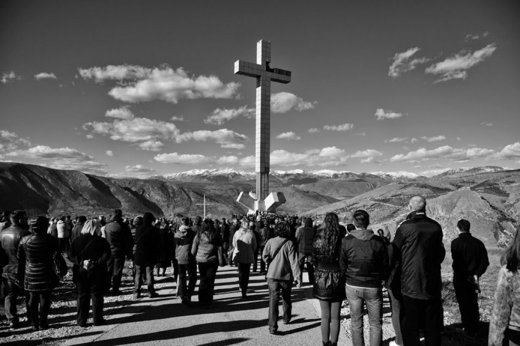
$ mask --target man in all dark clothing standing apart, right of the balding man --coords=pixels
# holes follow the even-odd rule
[[[453,258],[453,286],[459,302],[460,316],[464,331],[469,336],[475,336],[478,331],[478,279],[489,266],[484,243],[474,238],[470,233],[470,222],[459,220],[459,238],[451,242],[451,257]]]

